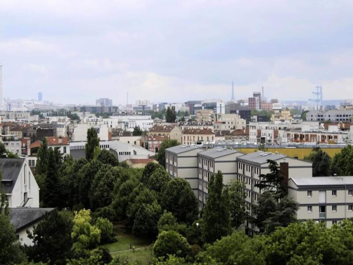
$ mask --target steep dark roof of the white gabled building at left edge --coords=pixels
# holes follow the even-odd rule
[[[12,193],[24,160],[24,158],[0,158],[1,182],[4,185],[5,193]]]

